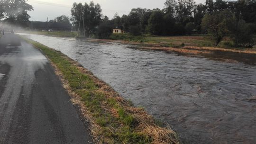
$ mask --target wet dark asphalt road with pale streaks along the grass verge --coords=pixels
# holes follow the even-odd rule
[[[0,144],[89,144],[46,57],[18,36],[0,38]]]

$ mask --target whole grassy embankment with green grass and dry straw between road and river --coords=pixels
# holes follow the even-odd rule
[[[24,38],[24,37],[23,37]],[[174,131],[157,125],[143,108],[134,107],[109,85],[59,51],[24,38],[50,59],[100,144],[179,144]]]

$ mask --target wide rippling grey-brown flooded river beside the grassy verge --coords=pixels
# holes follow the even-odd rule
[[[218,54],[193,56],[28,37],[81,63],[124,98],[167,122],[183,143],[256,144],[255,56],[237,54],[227,62],[216,60]]]

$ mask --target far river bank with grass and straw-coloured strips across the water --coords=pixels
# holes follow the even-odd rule
[[[37,34],[44,36],[57,36],[57,37],[76,37],[76,32],[43,32],[43,31],[24,31],[28,34]],[[112,36],[113,37],[113,36]],[[118,38],[118,37],[113,37]],[[213,46],[214,43],[208,36],[147,36],[133,38],[133,39],[95,39],[87,38],[91,42],[102,43],[120,43],[140,45],[141,49],[157,50],[157,51],[173,51],[187,54],[210,54],[214,51],[234,52],[243,54],[256,54],[256,47],[254,48],[234,48],[229,45],[228,38],[224,39],[218,46]]]

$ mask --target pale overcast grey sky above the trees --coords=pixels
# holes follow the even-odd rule
[[[71,16],[70,9],[74,2],[87,2],[91,0],[28,0],[27,3],[34,7],[34,11],[28,12],[31,16],[30,20],[47,21],[47,17],[54,19],[55,17],[66,15]],[[119,16],[128,14],[132,8],[154,9],[164,8],[165,0],[93,0],[94,3],[101,5],[103,15],[113,18],[114,13]],[[196,3],[204,3],[205,0],[195,0]]]

